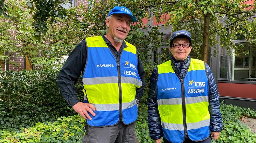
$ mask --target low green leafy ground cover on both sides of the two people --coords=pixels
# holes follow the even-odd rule
[[[141,143],[153,143],[149,137],[147,104],[139,105],[136,133]],[[241,124],[243,117],[256,118],[254,110],[221,103],[223,131],[212,143],[256,143],[256,135]],[[85,120],[80,115],[60,117],[54,123],[37,123],[30,128],[16,131],[1,131],[0,142],[81,142]]]

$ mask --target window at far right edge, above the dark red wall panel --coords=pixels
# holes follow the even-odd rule
[[[243,44],[244,47],[239,54],[233,56],[232,80],[248,81],[243,77],[256,77],[256,46],[248,43],[237,44]]]

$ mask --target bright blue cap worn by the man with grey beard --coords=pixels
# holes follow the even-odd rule
[[[132,22],[137,22],[137,19],[132,15],[131,11],[124,6],[115,6],[112,10],[110,10],[108,16],[112,14],[127,14],[131,17]]]

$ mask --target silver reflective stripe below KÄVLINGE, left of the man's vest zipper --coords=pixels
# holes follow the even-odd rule
[[[118,83],[117,76],[83,78],[83,84],[95,85],[104,83]]]

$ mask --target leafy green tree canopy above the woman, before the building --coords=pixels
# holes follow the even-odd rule
[[[206,34],[209,34],[207,40],[210,47],[216,48],[216,38],[220,38],[220,46],[227,49],[230,54],[232,49],[236,53],[240,48],[239,45],[232,43],[237,35],[243,35],[247,42],[255,43],[255,4],[253,1],[250,4],[243,0],[148,0],[144,5],[152,7],[151,11],[154,11],[157,22],[166,22],[166,28],[172,25],[172,31],[190,31],[193,51],[201,57],[201,43],[206,40],[203,36]],[[169,15],[161,16],[165,14]],[[207,14],[210,14],[209,31],[203,26]],[[217,52],[216,49],[214,52]]]

